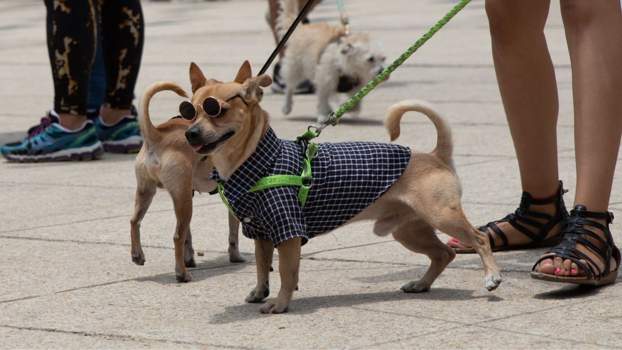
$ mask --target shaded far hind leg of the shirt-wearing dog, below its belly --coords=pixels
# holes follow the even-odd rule
[[[430,268],[425,272],[424,277],[402,286],[401,289],[406,293],[429,291],[434,280],[456,256],[452,248],[439,240],[434,229],[421,221],[402,224],[393,232],[393,238],[408,250],[425,254],[430,258]]]

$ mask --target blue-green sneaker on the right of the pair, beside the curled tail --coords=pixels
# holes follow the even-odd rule
[[[132,115],[124,115],[114,124],[108,124],[98,116],[95,130],[104,149],[110,153],[136,153],[141,150],[141,128],[134,108]]]

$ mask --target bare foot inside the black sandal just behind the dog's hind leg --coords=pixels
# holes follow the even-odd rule
[[[561,186],[561,185],[560,185]],[[559,191],[559,190],[558,190]],[[556,196],[561,196],[557,194]],[[521,246],[534,242],[533,237],[529,237],[525,232],[517,229],[511,222],[508,220],[509,217],[512,217],[513,221],[521,226],[524,231],[530,232],[533,236],[540,237],[544,235],[544,239],[548,239],[550,237],[554,237],[555,235],[559,235],[561,232],[561,223],[562,220],[560,218],[560,209],[564,207],[563,199],[559,201],[550,202],[546,204],[536,204],[536,202],[542,201],[541,199],[532,199],[531,195],[527,192],[523,192],[523,197],[521,199],[521,206],[514,212],[513,214],[509,214],[506,218],[502,220],[495,221],[493,223],[489,223],[486,226],[480,227],[480,230],[484,232],[488,232],[488,237],[492,237],[491,248],[499,247],[502,248],[504,246]],[[561,202],[560,202],[561,201]],[[562,217],[565,216],[565,208],[563,209],[564,213],[562,213]],[[529,212],[534,212],[536,214],[529,214]],[[544,214],[544,217],[538,217],[539,215]],[[524,219],[520,219],[520,217]],[[545,225],[549,224],[552,218],[558,218],[558,222],[552,225],[549,228],[545,227]],[[531,224],[530,224],[531,222]],[[505,236],[507,242],[504,242],[503,237],[499,235],[496,230],[493,229],[492,225],[498,227],[499,231]],[[541,227],[536,227],[534,225],[541,225]],[[548,232],[542,232],[543,230],[547,230]],[[557,243],[557,242],[555,242]],[[447,245],[454,249],[470,249],[466,244],[460,243],[459,240],[455,238],[451,238],[447,241]]]

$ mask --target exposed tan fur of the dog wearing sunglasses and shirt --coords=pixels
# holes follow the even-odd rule
[[[190,79],[193,82],[206,81],[198,67],[191,71]],[[234,82],[204,84],[194,91],[192,101],[195,103],[208,96],[224,101],[235,94],[244,97],[248,103],[247,107],[239,99],[231,100],[225,115],[213,120],[202,114],[187,131],[187,136],[188,133],[193,135],[188,138],[191,146],[211,145],[208,153],[213,156],[218,174],[225,180],[253,154],[258,141],[266,133],[269,116],[261,109],[259,102],[261,87],[270,83],[267,75],[252,77],[247,61],[239,69]],[[346,224],[375,220],[375,234],[392,234],[404,247],[430,258],[430,268],[425,275],[402,286],[402,290],[408,293],[428,291],[432,282],[455,257],[453,250],[438,239],[435,229],[475,248],[483,261],[486,288],[494,290],[501,283],[499,267],[488,245],[487,235],[474,229],[462,212],[460,184],[451,163],[453,146],[450,128],[427,103],[401,102],[391,106],[386,116],[385,124],[392,140],[399,136],[399,121],[407,111],[418,111],[432,120],[437,127],[437,148],[432,153],[412,151],[404,173],[389,191]],[[232,131],[234,135],[231,138],[222,139],[223,135]],[[261,306],[262,313],[282,313],[289,309],[298,283],[300,242],[300,238],[290,239],[276,247],[281,291],[276,300]],[[249,302],[261,301],[269,294],[268,273],[274,251],[268,240],[256,240],[255,247],[258,284],[247,296]]]

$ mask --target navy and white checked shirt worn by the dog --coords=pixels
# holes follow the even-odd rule
[[[302,146],[277,138],[269,128],[253,153],[228,181],[223,194],[249,239],[269,239],[276,247],[302,237],[302,244],[352,219],[382,196],[401,176],[411,150],[397,144],[371,142],[319,143],[311,161],[312,186],[305,206],[299,187],[277,186],[247,193],[264,176],[300,175]]]

